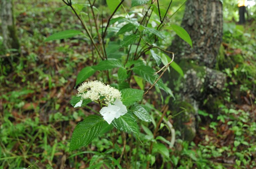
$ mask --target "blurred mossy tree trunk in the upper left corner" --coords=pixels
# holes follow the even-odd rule
[[[1,21],[3,44],[6,49],[19,49],[20,44],[13,18],[13,4],[11,0],[1,0]]]

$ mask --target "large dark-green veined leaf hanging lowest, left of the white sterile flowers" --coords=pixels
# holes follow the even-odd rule
[[[89,115],[79,122],[72,134],[69,151],[86,146],[95,138],[103,125],[104,120],[97,115]]]

